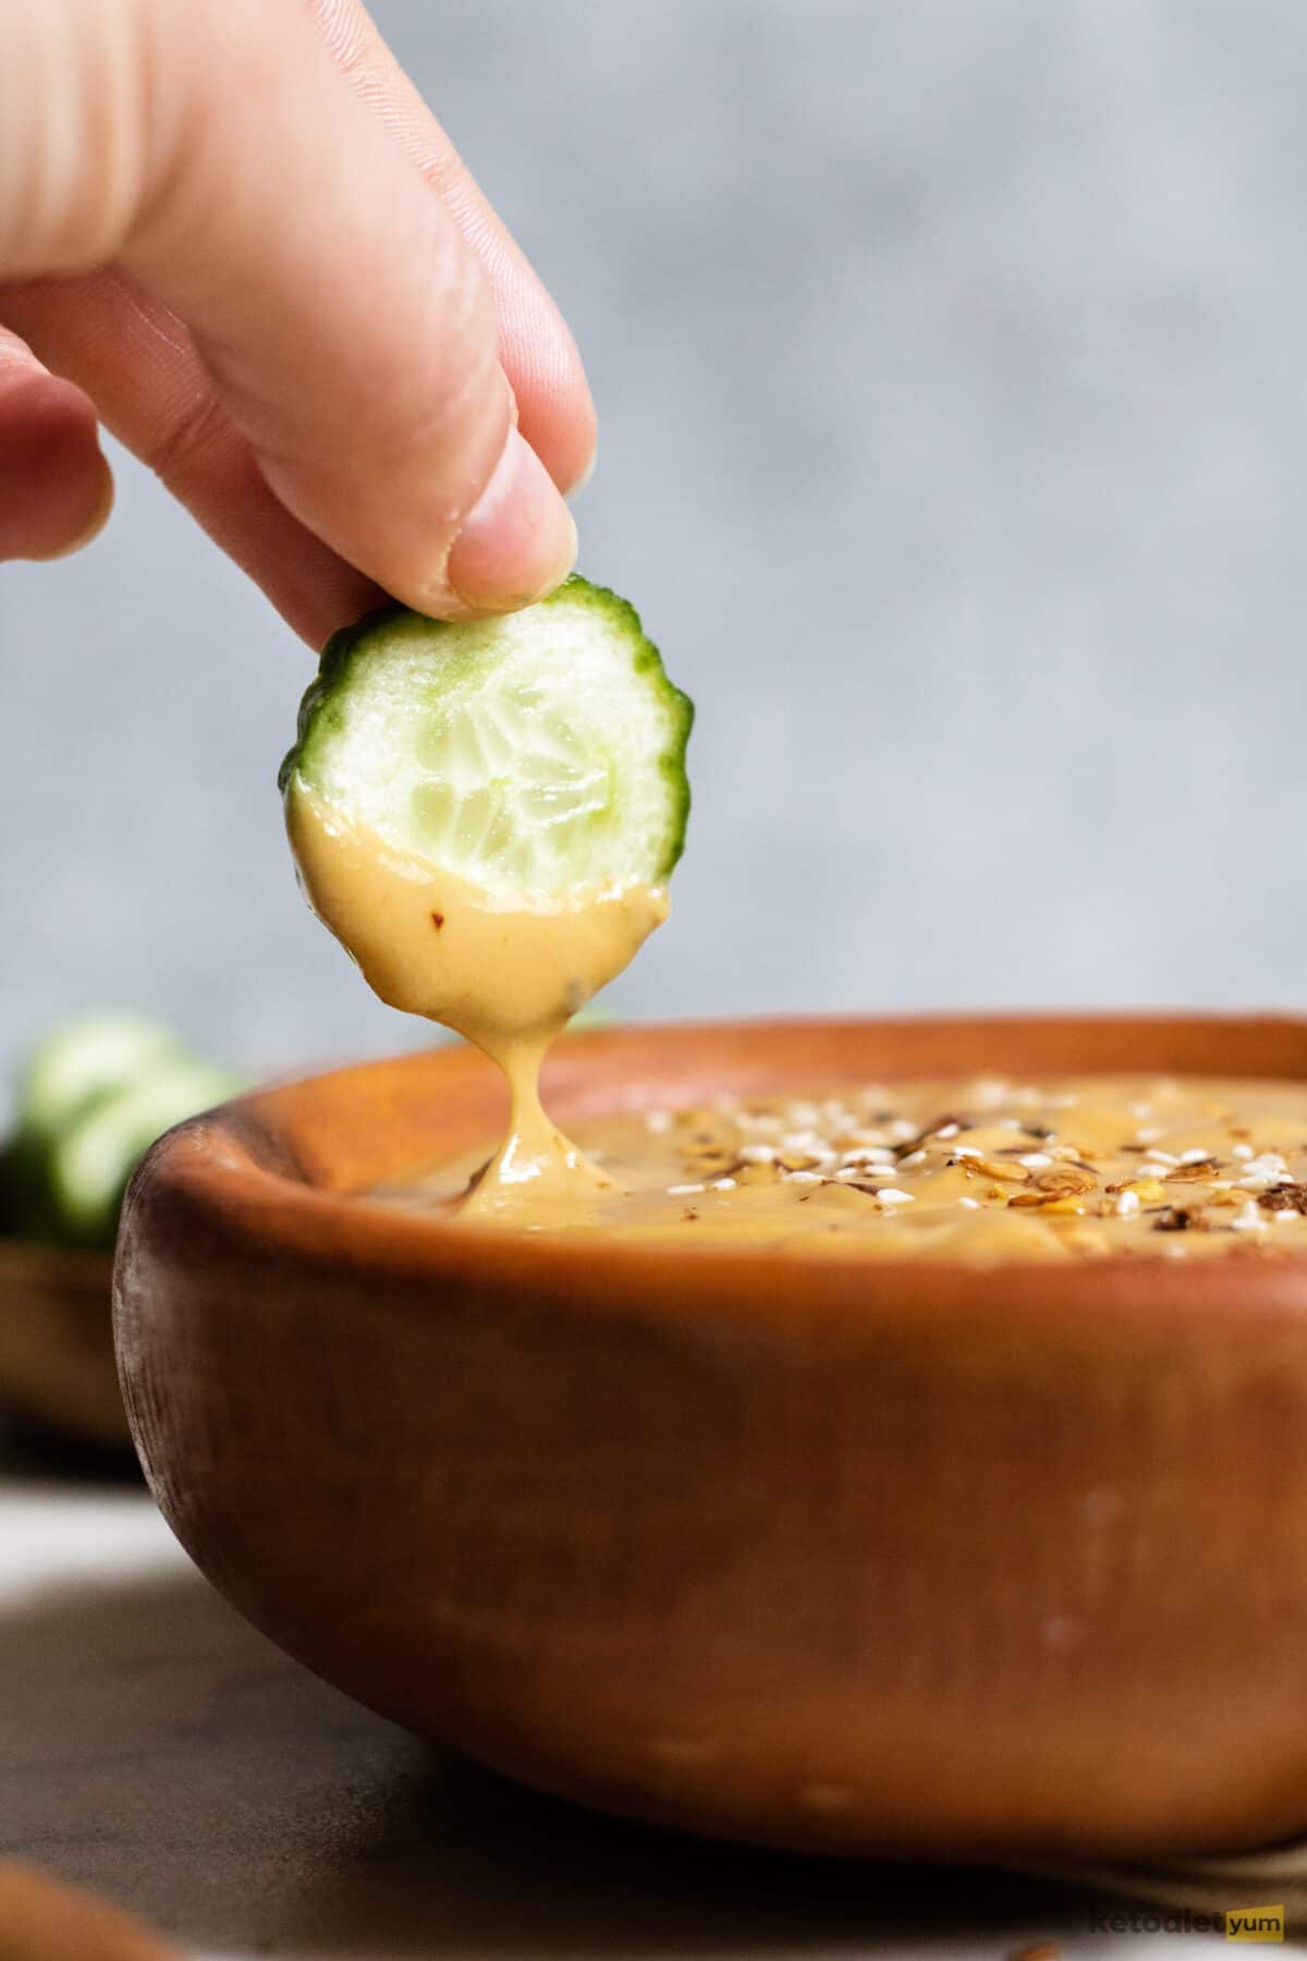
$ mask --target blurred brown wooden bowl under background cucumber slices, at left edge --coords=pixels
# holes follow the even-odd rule
[[[71,1435],[125,1445],[110,1275],[108,1253],[0,1239],[0,1402]]]

